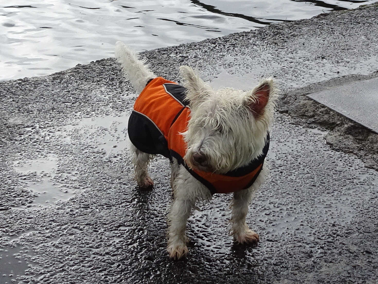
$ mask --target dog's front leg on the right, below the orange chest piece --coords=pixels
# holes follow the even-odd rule
[[[253,189],[239,190],[234,192],[232,199],[232,234],[237,243],[251,243],[256,245],[259,242],[259,235],[250,230],[245,221],[248,213],[248,204],[253,195]]]

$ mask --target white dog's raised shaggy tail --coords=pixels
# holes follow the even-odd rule
[[[121,63],[122,70],[129,78],[136,92],[140,93],[146,87],[147,82],[156,78],[148,69],[146,59],[139,60],[135,51],[131,50],[123,42],[116,42],[115,56]]]

